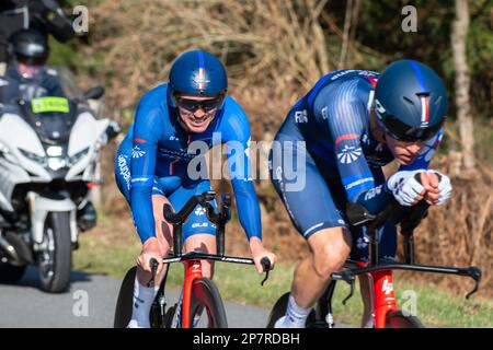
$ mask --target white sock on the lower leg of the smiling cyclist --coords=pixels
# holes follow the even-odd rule
[[[131,319],[128,328],[150,328],[149,313],[158,294],[159,285],[145,287],[135,277]]]

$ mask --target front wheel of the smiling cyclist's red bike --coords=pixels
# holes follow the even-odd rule
[[[207,313],[206,328],[228,328],[225,305],[222,304],[219,290],[213,280],[199,278],[192,284],[190,319],[192,326],[194,319],[204,313]]]

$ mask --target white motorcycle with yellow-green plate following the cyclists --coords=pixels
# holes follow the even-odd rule
[[[100,151],[119,132],[88,105],[103,94],[95,86],[79,98],[42,96],[3,106],[0,280],[16,281],[34,265],[42,290],[68,289],[79,232],[96,221],[88,203],[90,188],[100,183]]]

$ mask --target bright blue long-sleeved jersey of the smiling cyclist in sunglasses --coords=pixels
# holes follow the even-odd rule
[[[207,130],[190,133],[177,122],[177,110],[170,106],[167,90],[168,84],[161,84],[142,96],[135,121],[121,145],[121,150],[131,147],[130,174],[127,174],[131,178],[129,202],[141,241],[154,236],[151,195],[157,178],[179,176],[185,187],[204,180],[191,177],[188,165],[193,164],[194,171],[200,173],[202,163],[191,162],[204,155],[199,153],[204,145],[207,151],[218,143],[226,143],[240,223],[249,238],[261,238],[260,206],[250,176],[250,126],[245,113],[227,96]],[[200,141],[203,147],[193,147],[197,144],[194,141]]]

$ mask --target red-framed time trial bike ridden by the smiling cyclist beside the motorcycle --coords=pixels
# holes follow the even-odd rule
[[[173,253],[163,258],[163,264],[183,262],[185,276],[182,293],[176,304],[167,310],[165,281],[168,271],[160,284],[159,292],[150,311],[150,324],[152,328],[192,328],[198,326],[197,319],[205,312],[207,314],[207,328],[227,328],[228,322],[225,306],[219,294],[219,290],[211,279],[203,276],[202,260],[215,260],[223,262],[253,265],[253,259],[243,257],[232,257],[225,255],[225,226],[230,219],[231,196],[229,194],[221,197],[220,210],[216,211],[211,201],[215,200],[216,192],[205,191],[202,195],[193,196],[175,213],[171,206],[164,205],[163,213],[165,220],[173,225]],[[206,209],[206,214],[210,222],[216,225],[217,254],[202,252],[190,252],[183,254],[182,226],[197,205]],[[262,285],[268,279],[271,261],[267,257],[261,260],[266,273]],[[151,259],[152,277],[148,285],[151,285],[158,269],[158,261]],[[131,301],[134,292],[136,267],[131,268],[124,278],[118,295],[115,312],[115,328],[124,328],[131,317]]]

